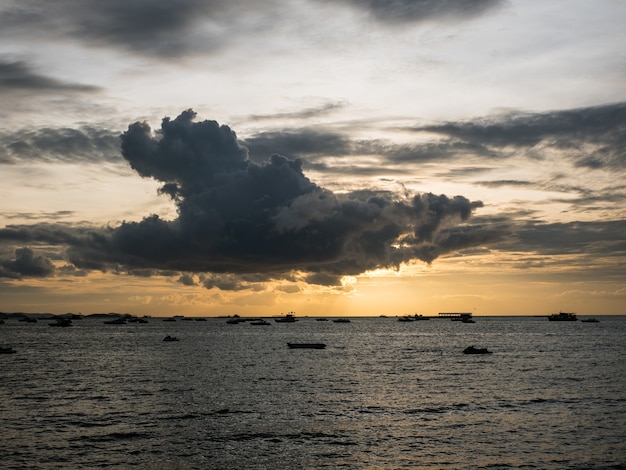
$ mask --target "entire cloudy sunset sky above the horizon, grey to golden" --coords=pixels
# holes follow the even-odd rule
[[[0,311],[626,314],[625,21],[0,0]]]

